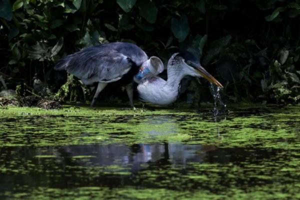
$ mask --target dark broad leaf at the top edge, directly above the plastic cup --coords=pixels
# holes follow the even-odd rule
[[[153,1],[142,0],[139,3],[139,15],[146,19],[149,23],[156,21],[158,9]]]

